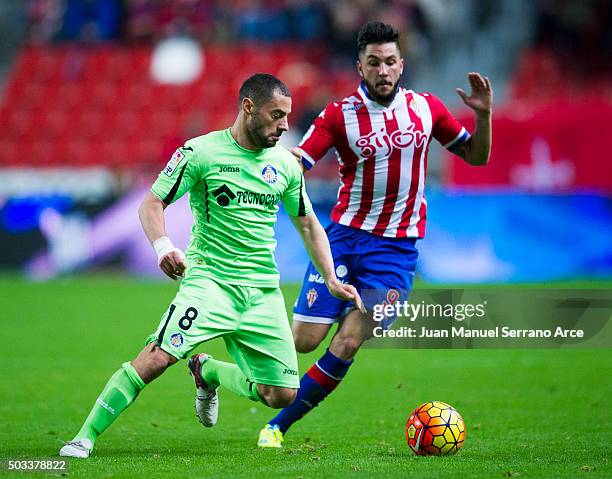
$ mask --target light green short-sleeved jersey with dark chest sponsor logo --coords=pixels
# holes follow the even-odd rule
[[[194,225],[186,251],[189,266],[228,284],[278,287],[278,203],[291,216],[312,213],[293,155],[280,145],[242,148],[229,128],[187,141],[151,191],[168,205],[190,192]]]

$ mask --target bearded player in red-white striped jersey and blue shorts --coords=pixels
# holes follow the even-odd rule
[[[294,153],[305,170],[335,148],[340,189],[327,235],[336,275],[355,285],[368,309],[408,298],[425,234],[427,151],[432,139],[471,165],[485,165],[491,150],[491,82],[469,73],[471,92],[457,89],[476,115],[470,135],[431,93],[399,86],[404,62],[399,34],[367,23],[359,32],[357,91],[327,105]],[[392,320],[392,318],[391,318]],[[260,447],[281,447],[289,427],[327,397],[344,378],[372,323],[349,302],[331,296],[312,263],[293,314],[296,349],[313,351],[339,322],[325,354],[301,378],[296,400],[262,429]]]

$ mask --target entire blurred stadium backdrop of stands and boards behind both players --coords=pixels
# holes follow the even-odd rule
[[[607,0],[3,0],[0,268],[155,274],[135,212],[174,149],[231,124],[257,71],[292,89],[284,142],[295,145],[357,86],[356,35],[376,19],[401,32],[403,85],[433,92],[466,126],[454,92],[466,73],[495,90],[490,166],[432,148],[422,277],[610,277],[611,16]],[[325,217],[333,157],[308,185]],[[190,217],[175,210],[181,243]],[[281,216],[277,259],[298,281],[292,234]]]

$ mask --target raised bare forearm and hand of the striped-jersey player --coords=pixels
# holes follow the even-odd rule
[[[469,140],[453,152],[470,165],[486,165],[491,154],[493,88],[491,81],[480,73],[468,73],[468,80],[472,89],[470,95],[461,88],[457,88],[457,94],[476,113],[476,129]]]

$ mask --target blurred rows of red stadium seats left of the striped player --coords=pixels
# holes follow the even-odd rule
[[[198,80],[184,86],[154,83],[149,47],[103,45],[27,47],[10,73],[0,107],[0,167],[158,166],[164,145],[183,138],[194,118],[201,131],[223,128],[236,114],[242,81],[258,71],[278,74],[292,63],[324,56],[293,46],[211,47]],[[296,86],[294,113],[325,78],[338,95],[354,78],[325,72]],[[285,79],[289,86],[292,79]],[[205,121],[204,121],[205,118]],[[179,146],[179,145],[176,145]]]

